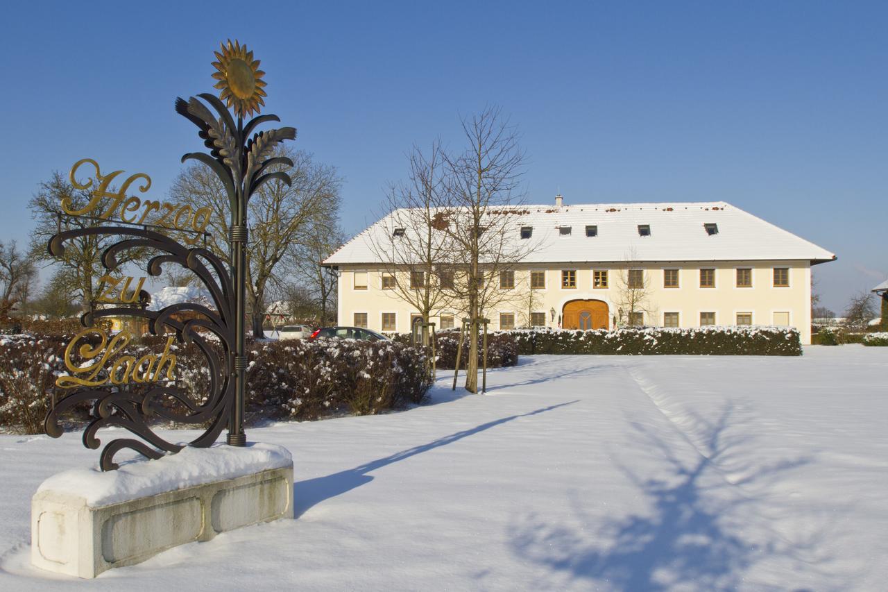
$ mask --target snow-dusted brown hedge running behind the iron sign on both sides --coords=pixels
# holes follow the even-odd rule
[[[43,432],[50,391],[67,373],[63,354],[73,334],[18,334],[0,338],[0,427]],[[95,345],[98,340],[84,342]],[[119,356],[159,353],[166,336],[143,335]],[[315,420],[352,412],[371,414],[419,403],[432,386],[428,354],[391,341],[248,340],[248,420]],[[194,345],[173,344],[177,386],[193,400],[205,396],[210,372]],[[108,361],[107,367],[114,359]],[[131,385],[149,388],[150,385]],[[58,396],[62,395],[58,393]],[[68,425],[90,420],[88,404],[66,416]]]

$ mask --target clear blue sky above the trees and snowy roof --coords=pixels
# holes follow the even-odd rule
[[[200,148],[172,110],[211,91],[212,51],[248,44],[266,112],[345,177],[372,221],[414,142],[459,145],[495,103],[548,203],[723,199],[836,252],[824,303],[888,276],[888,4],[16,3],[4,7],[0,236],[83,156],[155,196]]]

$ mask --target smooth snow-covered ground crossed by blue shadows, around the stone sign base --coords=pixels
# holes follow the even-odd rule
[[[885,589],[886,371],[844,346],[527,356],[488,396],[445,373],[406,412],[248,430],[293,453],[297,520],[94,581],[31,568],[28,521],[98,453],[0,436],[0,590]]]

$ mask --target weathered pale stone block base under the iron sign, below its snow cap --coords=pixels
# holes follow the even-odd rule
[[[292,517],[292,464],[99,507],[70,492],[39,491],[31,500],[31,563],[94,578],[219,532]]]

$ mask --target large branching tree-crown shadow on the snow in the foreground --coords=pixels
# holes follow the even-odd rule
[[[827,563],[829,557],[820,550],[825,527],[803,535],[803,540],[788,540],[769,528],[756,506],[781,474],[809,460],[754,467],[754,461],[737,458],[736,449],[749,436],[725,436],[732,413],[728,404],[715,422],[694,418],[696,427],[706,425],[707,431],[698,432],[702,438],[694,447],[700,455],[691,461],[679,459],[652,428],[632,424],[639,450],[661,454],[669,468],[657,476],[640,476],[615,463],[649,500],[648,512],[591,516],[583,508],[588,497],[574,495],[569,524],[552,524],[538,514],[512,524],[513,552],[548,568],[546,581],[536,582],[534,588],[567,588],[579,580],[617,590],[723,590],[749,586],[744,574],[765,558],[789,558],[794,568],[809,574],[814,565]],[[741,477],[729,480],[719,467],[724,462],[732,475]],[[750,523],[754,534],[749,534]],[[828,576],[818,578],[829,587]]]

